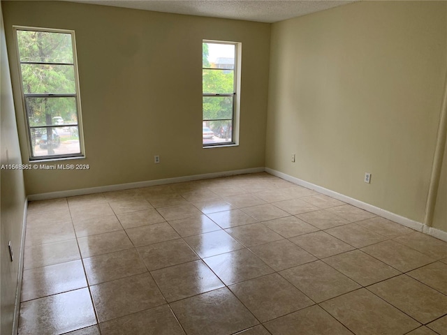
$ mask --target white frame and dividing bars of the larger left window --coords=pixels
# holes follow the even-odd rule
[[[14,31],[14,39],[15,39],[15,51],[17,54],[17,65],[18,72],[20,78],[20,92],[22,96],[22,105],[24,112],[25,125],[27,128],[27,148],[29,154],[29,161],[59,161],[59,160],[67,160],[67,159],[76,159],[76,158],[85,158],[85,147],[84,147],[84,133],[82,130],[82,112],[81,112],[81,100],[80,100],[80,86],[79,86],[79,74],[78,74],[78,53],[76,51],[76,40],[75,40],[75,31],[74,30],[66,30],[66,29],[52,29],[52,28],[41,28],[41,27],[26,27],[26,26],[13,26]],[[20,61],[20,50],[19,43],[17,37],[17,31],[43,31],[47,33],[59,33],[59,34],[70,34],[71,35],[71,46],[73,51],[73,64],[61,64],[61,65],[72,65],[74,71],[75,78],[75,94],[25,94],[23,89],[23,78],[22,78],[22,64],[40,64],[39,62],[22,62]],[[45,64],[57,64],[48,62]],[[76,112],[78,124],[78,137],[79,137],[79,147],[80,152],[77,154],[54,154],[48,156],[33,156],[32,146],[33,141],[31,139],[31,128],[61,128],[64,127],[62,125],[52,125],[52,126],[31,126],[29,124],[28,117],[28,107],[27,107],[27,97],[35,98],[35,97],[73,97],[76,102]],[[70,125],[72,126],[72,125]]]

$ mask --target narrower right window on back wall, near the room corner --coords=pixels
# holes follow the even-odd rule
[[[240,43],[202,44],[203,147],[237,144]]]

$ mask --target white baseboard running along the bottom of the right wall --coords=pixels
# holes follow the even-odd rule
[[[362,202],[360,200],[350,198],[347,195],[343,195],[341,193],[331,191],[328,188],[324,188],[324,187],[309,183],[308,181],[304,181],[302,179],[292,177],[288,174],[279,172],[277,170],[265,168],[265,172],[273,174],[274,176],[280,177],[287,181],[291,181],[291,183],[293,183],[293,184],[298,184],[300,186],[304,186],[305,188],[310,188],[311,190],[317,191],[324,195],[328,195],[331,198],[335,198],[337,200],[346,202],[348,204],[352,204],[353,206],[356,206],[358,208],[365,209],[365,211],[370,211],[371,213],[382,216],[383,218],[388,218],[388,220],[394,221],[396,223],[400,223],[401,225],[404,225],[408,228],[417,230],[418,232],[424,232],[425,234],[429,234],[433,237],[436,237],[437,239],[442,239],[443,241],[447,241],[447,232],[444,232],[443,230],[439,230],[439,229],[432,228],[432,227],[427,227],[427,225],[424,225],[423,223],[420,223],[418,221],[411,220],[411,218],[406,218],[404,216],[400,216],[400,215],[392,213],[390,211],[386,211],[385,209],[381,209],[379,207],[373,206],[372,204],[367,204],[366,202]]]

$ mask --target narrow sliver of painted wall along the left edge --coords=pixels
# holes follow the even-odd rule
[[[10,82],[8,54],[6,53],[3,15],[0,34],[0,165],[21,164],[19,139],[15,124],[13,91]],[[13,334],[15,296],[19,278],[19,259],[24,220],[25,189],[22,170],[1,170],[0,214],[0,334]],[[8,241],[13,246],[14,260],[10,261]]]

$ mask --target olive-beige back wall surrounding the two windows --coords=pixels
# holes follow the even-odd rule
[[[73,29],[78,48],[87,158],[76,163],[90,170],[27,171],[28,194],[265,165],[270,24],[64,1],[2,3],[24,161],[11,27]],[[242,42],[238,147],[202,148],[204,38]]]

